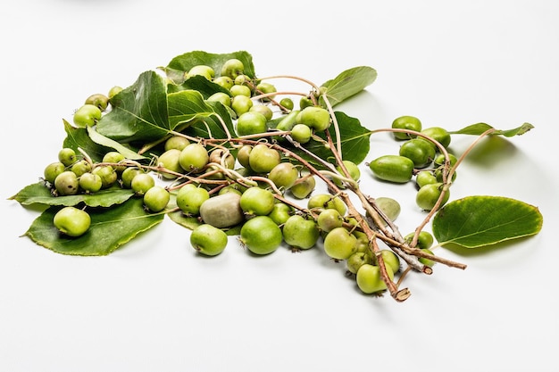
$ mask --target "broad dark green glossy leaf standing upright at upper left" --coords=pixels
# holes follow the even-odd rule
[[[167,84],[155,71],[140,74],[132,86],[113,96],[111,106],[96,125],[103,136],[130,143],[154,141],[169,133]]]

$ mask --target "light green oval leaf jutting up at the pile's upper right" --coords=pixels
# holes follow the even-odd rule
[[[322,84],[326,87],[326,95],[330,104],[333,106],[345,101],[352,95],[361,92],[365,87],[370,86],[377,79],[377,71],[368,66],[358,66],[353,69],[345,70],[335,79],[330,79]],[[320,101],[324,105],[323,99]]]

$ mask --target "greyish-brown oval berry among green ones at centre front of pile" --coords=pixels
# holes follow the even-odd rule
[[[212,196],[200,206],[200,218],[204,223],[218,228],[238,225],[245,220],[240,198],[236,193]]]

